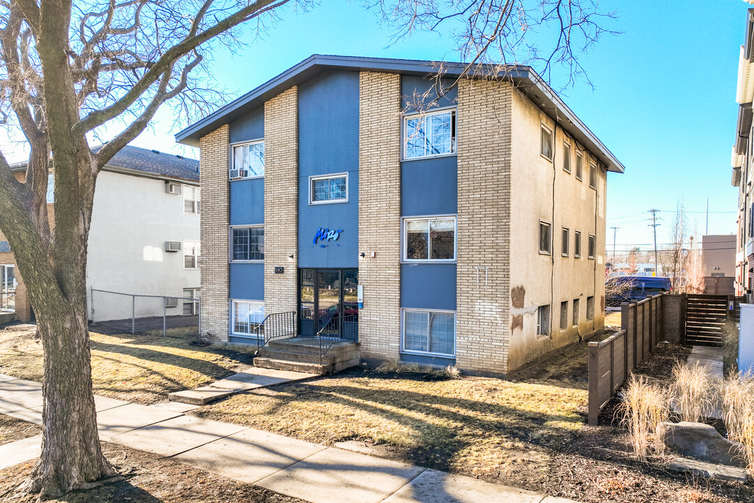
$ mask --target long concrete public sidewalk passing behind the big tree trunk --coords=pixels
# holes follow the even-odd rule
[[[164,406],[95,397],[100,438],[311,503],[573,503],[327,447]],[[41,423],[41,384],[0,374],[0,413]],[[40,454],[41,436],[0,446],[0,470]]]

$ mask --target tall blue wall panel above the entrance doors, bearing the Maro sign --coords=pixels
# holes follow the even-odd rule
[[[299,267],[358,267],[359,74],[324,72],[299,86]],[[309,176],[348,173],[348,202],[309,204]],[[318,241],[320,227],[342,229]]]

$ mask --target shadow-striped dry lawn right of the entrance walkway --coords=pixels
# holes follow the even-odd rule
[[[280,387],[278,387],[280,388]],[[285,409],[291,403],[299,400],[303,395],[309,395],[302,400],[313,401],[317,405],[325,404],[325,424],[315,427],[327,428],[326,422],[354,421],[349,409],[360,413],[367,413],[376,418],[381,431],[372,432],[369,428],[352,428],[351,434],[343,437],[332,437],[329,442],[342,440],[372,440],[377,437],[389,437],[391,428],[396,436],[403,435],[403,442],[394,440],[392,445],[402,452],[402,458],[428,468],[449,471],[456,461],[455,456],[464,449],[474,450],[480,440],[501,450],[507,450],[506,444],[516,441],[532,444],[532,446],[547,446],[550,443],[567,443],[574,437],[573,432],[562,428],[557,423],[584,422],[581,416],[567,416],[553,413],[536,413],[498,403],[487,403],[479,400],[469,400],[460,397],[437,396],[406,390],[374,390],[370,392],[364,388],[349,385],[287,385],[283,393],[274,395],[276,403],[265,409],[265,416],[280,416],[284,418],[290,412]],[[314,396],[312,396],[314,395]],[[241,395],[236,400],[248,400],[253,394]],[[227,402],[227,400],[224,400]],[[345,408],[343,410],[342,408]],[[206,411],[196,412],[198,416],[212,419],[225,419],[259,427],[258,413],[233,412],[226,418],[222,413],[222,402],[214,409],[210,406]],[[319,409],[317,409],[318,411]],[[312,412],[316,416],[317,411]],[[288,418],[289,420],[308,421],[311,418]],[[351,416],[349,418],[349,416]],[[317,420],[316,417],[313,419]],[[351,423],[353,425],[353,423]],[[280,426],[280,425],[278,425]],[[264,426],[261,426],[264,428]],[[290,429],[284,428],[284,434],[290,434]],[[379,434],[377,434],[379,433]],[[382,434],[382,435],[380,435]],[[336,434],[337,435],[337,434]],[[388,440],[388,443],[391,443]]]

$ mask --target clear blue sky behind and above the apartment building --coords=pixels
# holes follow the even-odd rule
[[[261,41],[238,54],[215,54],[213,74],[237,97],[311,54],[455,60],[447,37],[422,34],[388,47],[391,31],[359,3],[328,2],[305,14],[284,12]],[[747,2],[603,1],[618,10],[605,36],[582,58],[595,89],[584,82],[563,99],[626,166],[608,176],[608,226],[618,245],[651,244],[648,210],[703,211],[710,199],[710,234],[735,232],[736,190],[730,186],[735,87]],[[553,87],[563,82],[554,81]],[[196,120],[193,118],[192,120]],[[176,146],[172,111],[136,145],[196,155]],[[703,213],[694,216],[704,233]],[[658,242],[669,241],[672,213],[661,213]],[[692,225],[694,222],[692,222]],[[612,232],[608,229],[608,250]]]

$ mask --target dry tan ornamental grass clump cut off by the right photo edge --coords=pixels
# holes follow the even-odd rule
[[[720,391],[728,440],[741,443],[740,455],[754,474],[754,374],[731,373]]]

